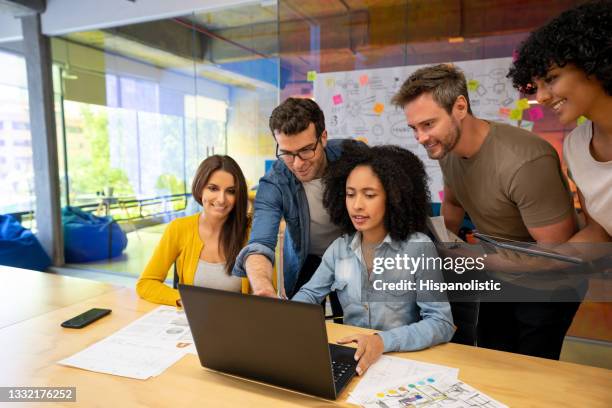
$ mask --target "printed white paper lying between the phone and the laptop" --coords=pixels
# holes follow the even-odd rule
[[[185,313],[160,306],[59,364],[145,380],[187,353],[196,352]]]

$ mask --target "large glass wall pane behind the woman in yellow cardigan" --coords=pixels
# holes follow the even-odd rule
[[[277,29],[276,5],[255,3],[54,38],[63,204],[119,220],[183,210],[212,154],[255,185],[274,157]]]

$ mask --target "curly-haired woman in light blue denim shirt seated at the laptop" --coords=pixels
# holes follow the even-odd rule
[[[335,290],[345,323],[381,330],[339,341],[357,343],[361,375],[383,352],[449,341],[454,326],[446,298],[414,284],[425,276],[441,280],[440,271],[400,265],[407,258],[437,257],[423,233],[429,207],[423,163],[396,146],[346,141],[342,151],[323,178],[323,204],[344,235],[325,251],[313,277],[292,300],[320,304]],[[414,287],[398,290],[387,285],[381,290],[381,281],[410,281]]]

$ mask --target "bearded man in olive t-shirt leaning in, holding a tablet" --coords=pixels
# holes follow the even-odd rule
[[[525,130],[472,115],[463,73],[414,72],[393,98],[444,175],[442,215],[457,233],[465,212],[497,237],[566,242],[576,224],[556,151]],[[481,303],[478,345],[558,359],[579,303]]]

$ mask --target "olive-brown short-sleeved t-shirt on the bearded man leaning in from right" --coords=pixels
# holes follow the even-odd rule
[[[444,184],[478,231],[534,241],[527,227],[555,224],[573,212],[571,194],[555,149],[535,134],[490,122],[480,150],[470,158],[440,160]]]

